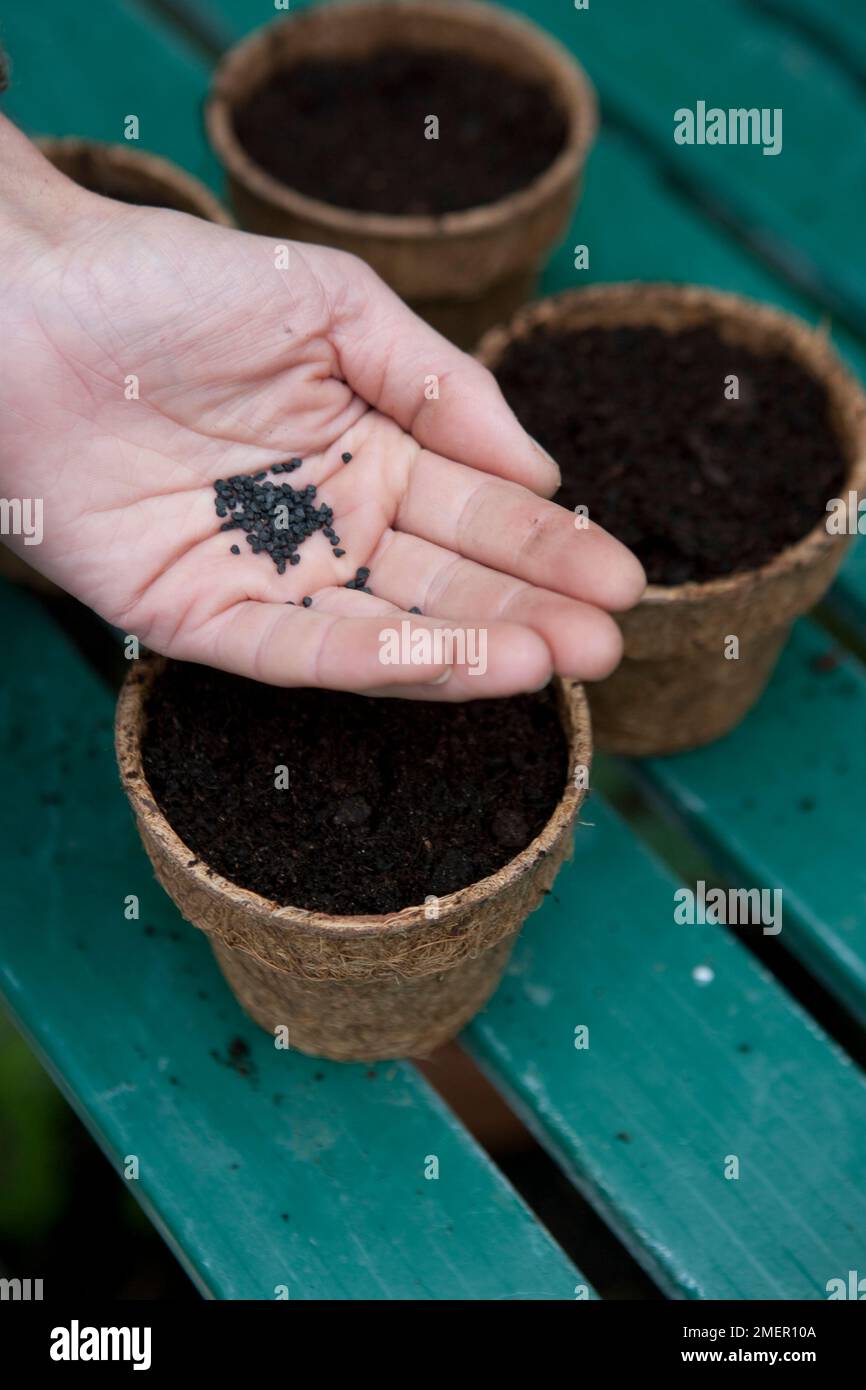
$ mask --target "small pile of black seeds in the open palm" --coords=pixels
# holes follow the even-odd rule
[[[271,473],[293,473],[302,461],[289,459],[286,463],[275,463]],[[253,555],[270,555],[279,574],[285,574],[286,564],[300,564],[297,548],[314,531],[322,531],[332,546],[339,545],[332,525],[334,512],[324,505],[317,507],[314,499],[313,485],[299,489],[288,482],[275,484],[267,473],[238,474],[214,482],[217,516],[231,513],[231,520],[224,521],[220,530],[246,531]],[[240,548],[232,545],[231,552],[240,555]],[[346,552],[335,549],[334,553]]]

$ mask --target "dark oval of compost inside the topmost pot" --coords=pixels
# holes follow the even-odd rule
[[[439,122],[438,139],[428,118]],[[382,49],[274,72],[234,115],[246,153],[311,197],[364,213],[436,214],[531,183],[566,143],[538,82],[453,53]]]

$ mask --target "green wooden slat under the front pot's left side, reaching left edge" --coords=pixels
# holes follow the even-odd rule
[[[199,1286],[574,1298],[587,1280],[411,1066],[317,1062],[249,1023],[138,842],[110,694],[32,599],[3,584],[0,612],[0,987]]]

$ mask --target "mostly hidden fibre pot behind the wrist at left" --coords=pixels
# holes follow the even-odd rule
[[[92,193],[124,203],[171,207],[209,222],[234,227],[227,210],[199,179],[158,154],[149,154],[129,145],[100,145],[78,136],[46,136],[36,140],[36,145],[54,168]],[[0,575],[42,594],[61,592],[1,543]]]

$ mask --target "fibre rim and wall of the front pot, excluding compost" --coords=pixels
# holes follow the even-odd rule
[[[268,1031],[288,1027],[291,1047],[336,1061],[425,1056],[455,1037],[495,990],[516,933],[571,853],[584,795],[574,770],[591,759],[581,688],[557,682],[563,791],[525,848],[491,876],[438,898],[435,912],[423,902],[386,915],[334,916],[242,888],[181,841],[157,805],[143,759],[147,706],[164,673],[163,659],[146,657],[121,691],[121,780],[157,878],[207,934],[246,1012]]]

